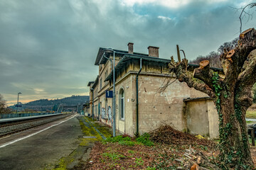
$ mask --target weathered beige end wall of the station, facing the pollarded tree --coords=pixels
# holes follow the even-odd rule
[[[149,132],[160,125],[171,125],[177,130],[186,130],[186,118],[183,111],[183,98],[206,96],[200,91],[189,88],[185,83],[174,81],[166,90],[157,93],[161,84],[165,84],[170,77],[162,75],[139,75],[139,133]]]

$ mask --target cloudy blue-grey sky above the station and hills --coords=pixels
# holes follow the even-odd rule
[[[250,0],[0,0],[0,94],[9,104],[87,95],[99,47],[207,55],[239,35]],[[255,16],[256,17],[256,16]],[[244,28],[255,27],[255,18]]]

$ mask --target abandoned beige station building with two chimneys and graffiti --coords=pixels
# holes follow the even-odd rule
[[[192,134],[217,137],[218,114],[213,100],[176,80],[175,74],[169,73],[171,60],[159,58],[159,47],[149,46],[148,50],[149,54],[134,52],[131,42],[128,51],[100,47],[95,60],[99,74],[87,85],[90,86],[88,114],[93,113],[102,123],[112,126],[114,74],[119,132],[142,135],[166,124]],[[188,64],[188,67],[193,70],[198,66]],[[159,93],[165,84],[169,86]]]

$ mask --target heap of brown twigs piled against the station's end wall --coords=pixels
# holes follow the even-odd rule
[[[207,139],[198,139],[197,137],[175,130],[170,125],[161,125],[156,130],[149,132],[153,142],[173,145],[203,145],[207,147],[214,147],[215,142]]]

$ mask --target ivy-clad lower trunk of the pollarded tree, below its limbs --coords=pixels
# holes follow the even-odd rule
[[[220,161],[224,167],[229,164],[236,169],[242,169],[241,166],[253,166],[245,120],[247,109],[235,102],[234,92],[230,91],[226,98],[225,94],[227,91],[221,92],[220,103],[215,101],[219,116]]]

